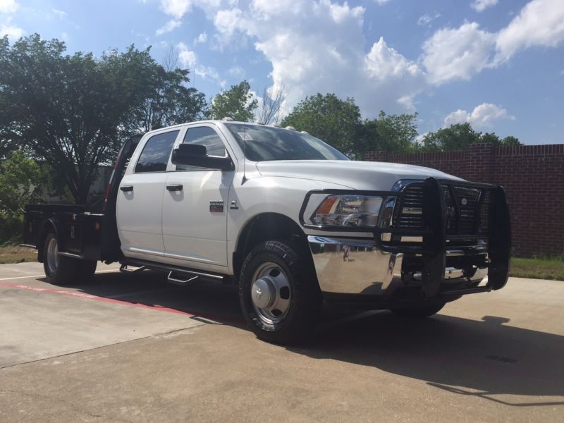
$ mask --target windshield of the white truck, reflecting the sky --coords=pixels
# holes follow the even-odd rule
[[[295,130],[226,123],[245,157],[269,160],[348,160],[345,154],[316,137]]]

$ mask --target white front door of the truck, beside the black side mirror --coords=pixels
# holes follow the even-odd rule
[[[183,142],[205,145],[209,156],[228,155],[223,136],[213,125],[190,126]],[[168,173],[162,202],[165,258],[200,269],[227,266],[227,202],[233,173],[180,165]]]

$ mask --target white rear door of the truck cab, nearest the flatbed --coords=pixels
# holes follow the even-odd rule
[[[118,192],[117,222],[126,257],[163,257],[162,200],[172,147],[180,130],[158,133],[135,154]],[[141,147],[141,146],[140,146]]]

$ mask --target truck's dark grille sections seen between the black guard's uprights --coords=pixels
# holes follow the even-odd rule
[[[395,228],[419,230],[424,228],[423,197],[424,185],[407,185],[393,214]],[[445,207],[447,235],[486,235],[489,233],[489,209],[491,189],[441,184]]]

